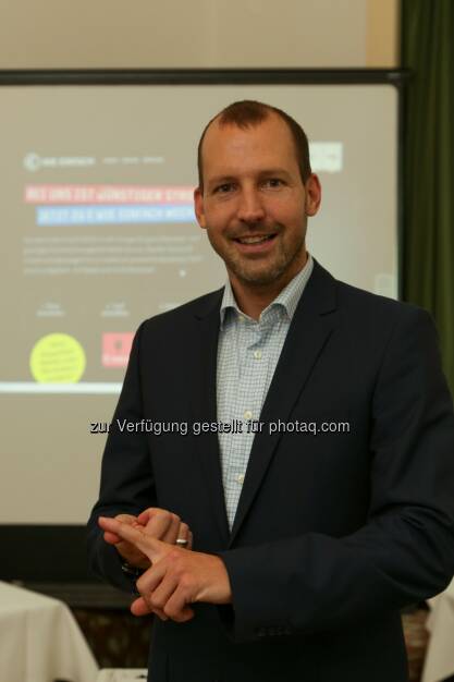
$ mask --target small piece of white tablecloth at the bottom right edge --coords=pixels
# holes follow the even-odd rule
[[[454,675],[454,580],[428,604],[430,640],[421,682],[440,682]]]

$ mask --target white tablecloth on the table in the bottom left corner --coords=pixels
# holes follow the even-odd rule
[[[0,582],[0,682],[95,682],[97,674],[66,605]]]

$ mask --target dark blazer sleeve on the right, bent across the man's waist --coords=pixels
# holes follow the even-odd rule
[[[319,633],[426,599],[454,574],[454,416],[430,316],[406,306],[375,386],[367,523],[220,552],[236,641]]]

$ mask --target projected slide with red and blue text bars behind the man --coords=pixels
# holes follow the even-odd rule
[[[193,192],[199,134],[235,99],[275,103],[307,129],[327,206],[310,223],[314,255],[341,279],[396,293],[391,87],[41,86],[0,97],[3,393],[118,392],[138,324],[222,285]]]

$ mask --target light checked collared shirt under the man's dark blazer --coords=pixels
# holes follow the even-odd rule
[[[307,263],[255,320],[240,310],[228,280],[221,303],[218,345],[218,422],[243,423],[243,433],[219,433],[222,480],[230,528],[236,513],[254,433],[246,424],[259,419],[292,317],[312,272]]]

